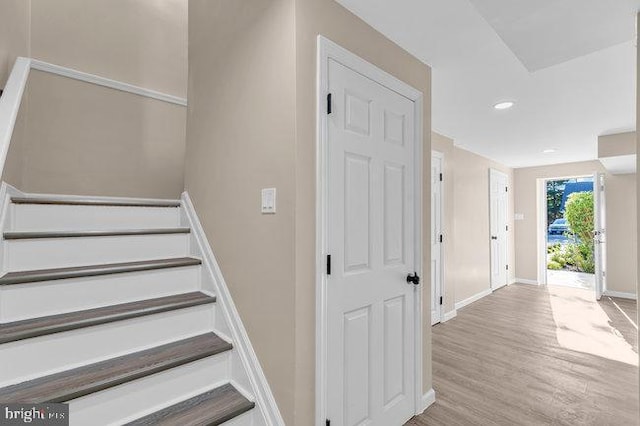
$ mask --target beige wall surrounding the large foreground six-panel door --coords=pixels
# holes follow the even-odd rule
[[[316,42],[321,34],[424,94],[424,164],[431,163],[431,70],[333,0],[296,1],[296,425],[313,424],[315,359],[315,84]],[[430,217],[429,173],[425,174],[423,230]],[[423,248],[429,277],[430,248]],[[428,285],[423,306],[430,306]],[[423,316],[423,387],[431,388],[431,321]]]

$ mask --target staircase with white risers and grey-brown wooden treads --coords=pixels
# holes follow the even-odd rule
[[[183,201],[3,188],[0,403],[65,402],[72,425],[271,423]]]

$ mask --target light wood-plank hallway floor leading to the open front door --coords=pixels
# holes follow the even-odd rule
[[[433,327],[436,403],[407,425],[637,425],[636,318],[582,289],[500,289]]]

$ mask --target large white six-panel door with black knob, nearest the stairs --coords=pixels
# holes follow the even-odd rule
[[[329,59],[327,417],[402,425],[415,412],[415,103]]]

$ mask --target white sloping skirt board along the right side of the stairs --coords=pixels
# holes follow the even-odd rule
[[[284,420],[271,392],[267,378],[264,375],[260,361],[251,345],[249,335],[233,303],[231,293],[224,280],[220,266],[213,254],[204,228],[198,219],[195,207],[187,192],[182,193],[182,204],[191,227],[191,232],[197,241],[197,251],[199,251],[202,256],[203,267],[205,267],[207,272],[213,277],[215,294],[217,296],[216,304],[225,314],[234,343],[234,350],[238,351],[238,355],[247,372],[249,382],[253,388],[252,390],[255,393],[256,405],[262,412],[267,425],[284,426]]]

